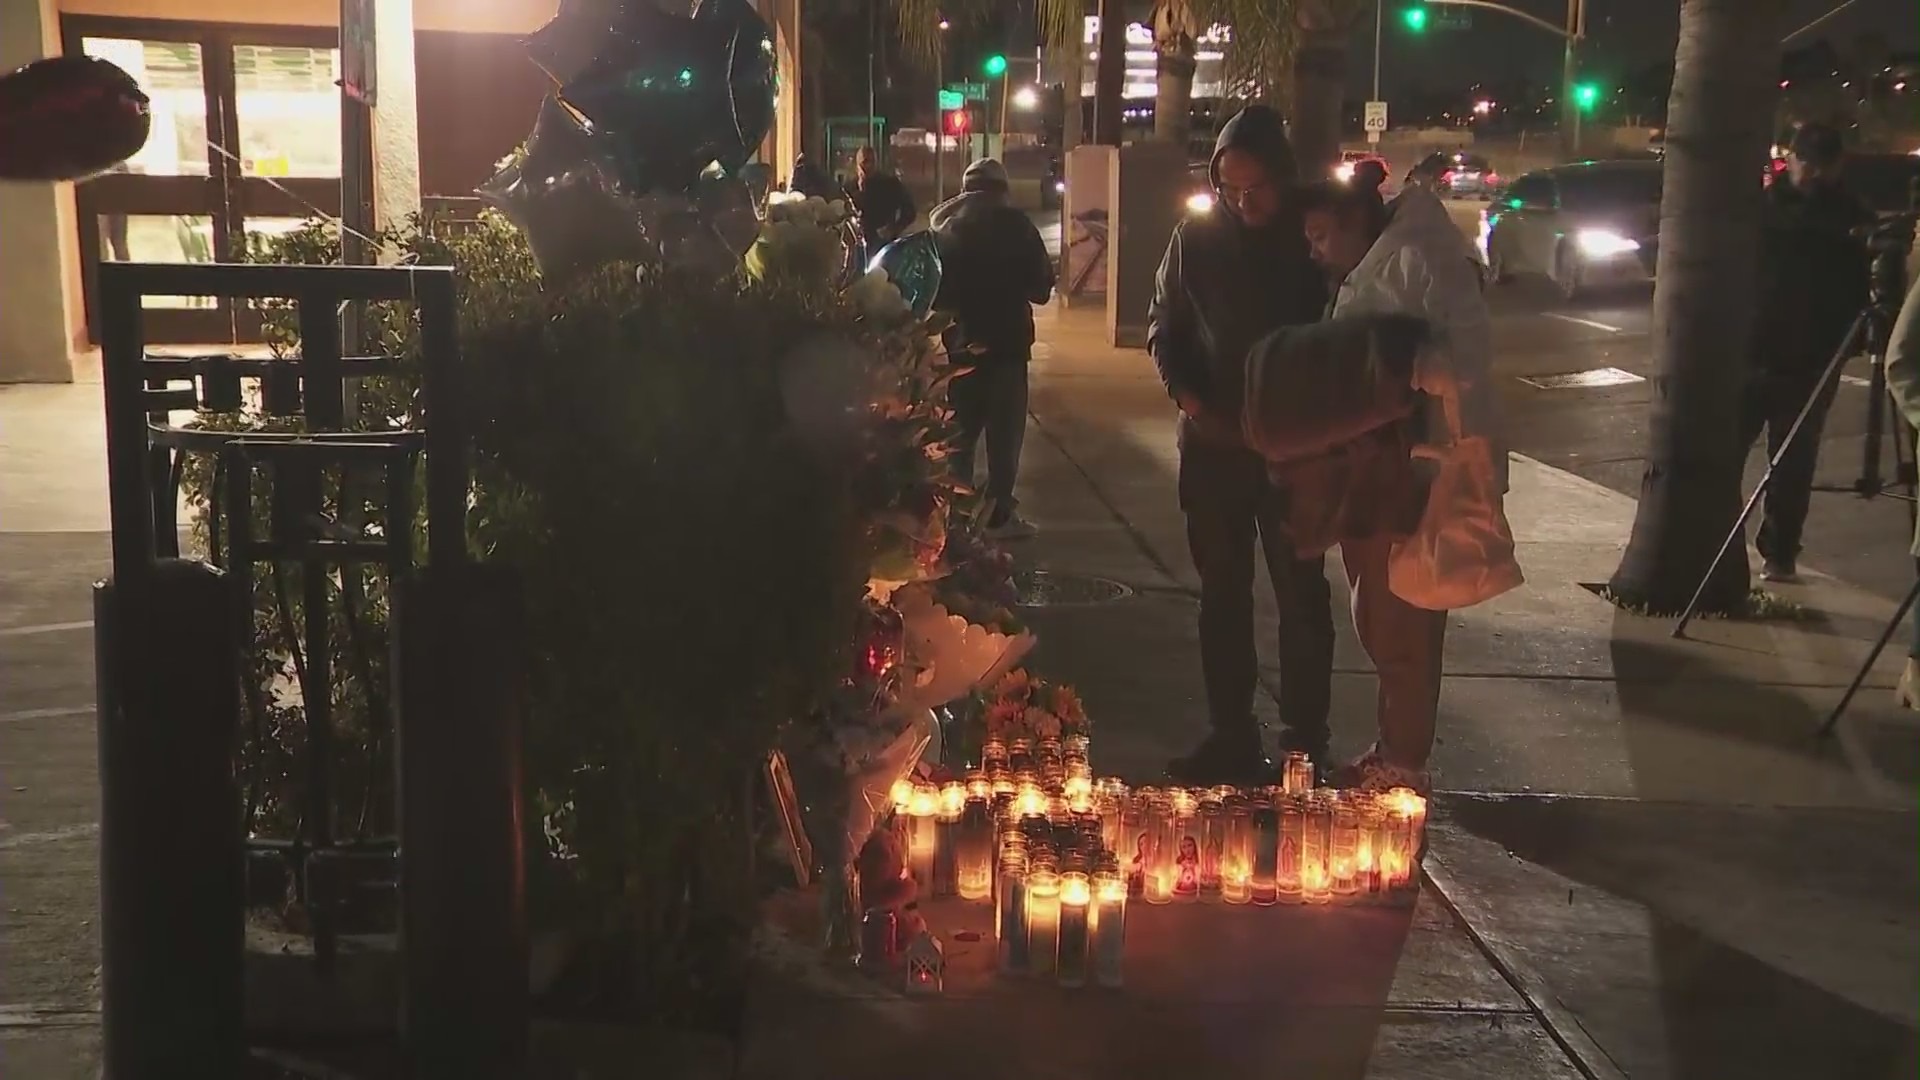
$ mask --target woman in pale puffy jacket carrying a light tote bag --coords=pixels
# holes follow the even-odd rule
[[[1492,492],[1505,492],[1505,448],[1498,432],[1492,359],[1492,319],[1480,292],[1478,261],[1467,238],[1448,217],[1446,204],[1432,188],[1413,184],[1390,204],[1379,194],[1325,181],[1300,194],[1300,208],[1313,258],[1338,286],[1332,319],[1367,315],[1417,315],[1427,321],[1434,348],[1423,357],[1438,357],[1436,369],[1415,369],[1413,388],[1427,407],[1415,415],[1411,432],[1384,432],[1361,448],[1342,448],[1336,469],[1352,477],[1373,475],[1357,461],[1365,452],[1394,454],[1400,461],[1379,475],[1404,473],[1407,444],[1448,446],[1461,438],[1490,436]],[[1308,463],[1321,473],[1327,463]],[[1321,484],[1342,490],[1350,484]],[[1400,484],[1386,484],[1400,490]],[[1427,479],[1413,477],[1411,502],[1425,503]],[[1344,490],[1350,503],[1388,502],[1365,492]],[[1308,509],[1308,507],[1302,507]],[[1446,640],[1446,611],[1415,607],[1388,588],[1388,557],[1405,530],[1392,511],[1356,507],[1359,513],[1315,515],[1332,523],[1319,542],[1338,542],[1352,590],[1354,628],[1379,673],[1379,742],[1340,771],[1342,786],[1386,790],[1409,786],[1428,790],[1427,759],[1434,746],[1440,709],[1440,659]],[[1413,521],[1419,507],[1404,517]],[[1296,538],[1302,527],[1294,527]]]

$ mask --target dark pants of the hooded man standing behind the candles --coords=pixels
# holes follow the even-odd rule
[[[1181,509],[1200,573],[1200,669],[1215,736],[1258,740],[1254,688],[1254,540],[1260,540],[1281,613],[1283,749],[1327,749],[1332,701],[1332,590],[1327,559],[1302,559],[1284,528],[1283,496],[1252,450],[1181,432]]]

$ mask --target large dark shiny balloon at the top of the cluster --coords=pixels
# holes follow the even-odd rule
[[[559,27],[540,31],[551,35],[530,42],[547,50],[549,73],[591,52],[561,88],[586,119],[591,154],[636,196],[689,192],[712,163],[735,173],[774,121],[766,21],[747,0],[703,0],[691,17],[649,0],[599,0],[611,23],[586,31],[589,17],[599,25],[588,13],[593,2],[574,0]]]

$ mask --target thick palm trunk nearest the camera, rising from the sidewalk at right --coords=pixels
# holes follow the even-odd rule
[[[1740,398],[1753,346],[1761,184],[1782,0],[1684,0],[1667,119],[1653,407],[1634,534],[1611,588],[1672,613],[1740,515]],[[1703,607],[1747,598],[1745,544],[1720,563]]]

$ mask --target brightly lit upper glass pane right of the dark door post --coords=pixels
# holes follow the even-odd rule
[[[338,177],[338,48],[234,46],[242,175]]]

